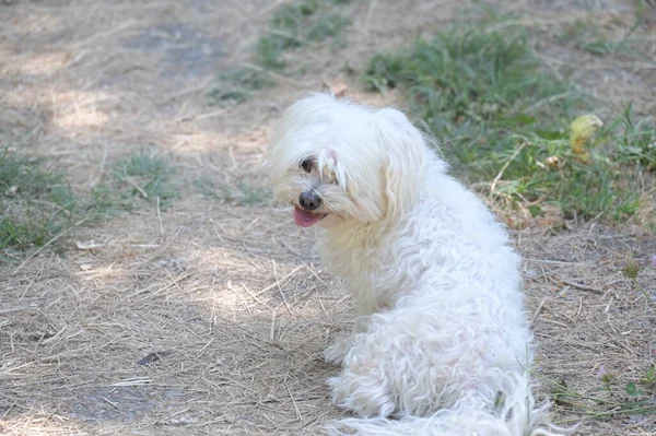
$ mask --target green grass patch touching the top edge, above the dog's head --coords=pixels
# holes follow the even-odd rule
[[[283,70],[285,52],[300,48],[307,42],[318,43],[338,36],[350,24],[349,19],[332,13],[336,5],[347,0],[297,0],[288,3],[273,14],[269,32],[255,47],[255,61],[259,66]]]

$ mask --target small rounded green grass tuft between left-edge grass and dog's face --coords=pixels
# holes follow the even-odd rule
[[[129,188],[128,192],[132,198],[149,201],[160,198],[162,204],[177,197],[171,182],[173,173],[166,161],[145,150],[118,162],[114,168],[115,178]]]

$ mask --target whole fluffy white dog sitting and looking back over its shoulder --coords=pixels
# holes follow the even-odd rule
[[[317,225],[359,319],[326,350],[332,434],[550,435],[535,405],[519,257],[477,197],[395,109],[328,95],[291,106],[267,157],[274,196]]]

